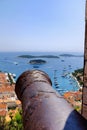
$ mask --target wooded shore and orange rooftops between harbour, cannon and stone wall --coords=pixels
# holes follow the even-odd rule
[[[82,105],[82,85],[83,85],[83,69],[75,70],[72,75],[76,78],[80,84],[80,89],[76,92],[66,92],[64,98],[78,111],[81,113]]]

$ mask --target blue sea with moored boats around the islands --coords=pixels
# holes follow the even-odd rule
[[[60,56],[61,54],[72,54],[75,56]],[[21,55],[53,55],[59,58],[20,58]],[[61,95],[68,91],[77,91],[78,83],[71,76],[72,72],[83,68],[84,56],[82,53],[74,52],[0,52],[0,71],[13,73],[17,78],[27,70],[42,70],[46,72],[51,81],[52,87]],[[30,60],[42,59],[45,64],[37,66],[30,64]]]

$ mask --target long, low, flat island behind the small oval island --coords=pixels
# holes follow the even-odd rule
[[[54,55],[41,55],[41,56],[33,56],[33,55],[20,55],[20,58],[59,58],[58,56]]]

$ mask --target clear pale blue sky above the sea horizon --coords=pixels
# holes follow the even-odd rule
[[[0,51],[83,52],[85,0],[0,0]]]

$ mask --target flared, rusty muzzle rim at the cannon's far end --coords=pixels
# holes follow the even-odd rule
[[[34,82],[46,82],[46,83],[52,85],[52,82],[51,82],[49,76],[45,72],[39,71],[39,70],[26,71],[18,78],[18,80],[16,82],[17,86],[19,86],[19,87],[15,87],[15,91],[16,91],[19,99],[20,99],[24,89],[27,86],[30,86]]]

